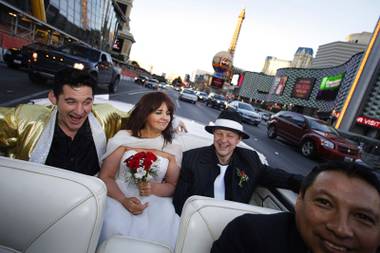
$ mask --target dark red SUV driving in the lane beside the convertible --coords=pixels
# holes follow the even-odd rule
[[[280,136],[300,147],[303,156],[330,160],[359,159],[358,146],[324,121],[300,113],[281,111],[268,121],[269,138]]]

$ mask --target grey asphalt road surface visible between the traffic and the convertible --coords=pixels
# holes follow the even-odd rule
[[[35,85],[28,79],[24,70],[14,70],[0,65],[0,106],[15,106],[27,103],[30,99],[45,98],[51,84]],[[110,99],[135,104],[145,93],[152,90],[143,88],[131,81],[122,80],[119,91],[111,94]],[[172,89],[163,89],[175,102],[176,115],[186,117],[202,124],[214,121],[220,111],[207,107],[201,102],[195,105],[178,100],[178,92]],[[106,90],[97,89],[96,93],[105,93]],[[269,139],[266,136],[266,123],[263,121],[258,127],[244,124],[250,139],[245,143],[264,154],[272,167],[282,168],[288,172],[305,175],[317,162],[304,158],[297,148],[286,144],[279,139]]]

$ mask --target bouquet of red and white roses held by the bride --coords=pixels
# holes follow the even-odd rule
[[[138,152],[127,159],[124,163],[129,168],[128,179],[134,182],[148,182],[157,175],[157,156],[152,152]]]

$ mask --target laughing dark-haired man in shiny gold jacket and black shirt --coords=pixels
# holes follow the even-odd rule
[[[0,107],[0,154],[86,175],[99,172],[106,141],[127,113],[110,104],[93,105],[94,81],[66,68],[55,77],[53,106]]]

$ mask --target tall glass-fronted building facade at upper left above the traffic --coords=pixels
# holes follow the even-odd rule
[[[14,40],[55,45],[77,40],[128,59],[134,42],[129,33],[132,0],[6,0],[0,4],[4,14],[0,25]],[[8,15],[9,9],[13,16]]]

